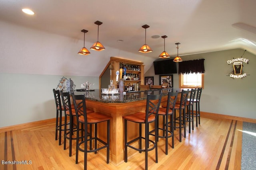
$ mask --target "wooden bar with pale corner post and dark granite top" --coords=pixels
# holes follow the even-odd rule
[[[181,89],[164,89],[164,90],[146,90],[140,92],[126,93],[126,95],[104,95],[99,90],[74,92],[74,94],[85,94],[86,107],[93,109],[112,117],[110,120],[110,161],[115,164],[124,162],[124,123],[122,116],[135,113],[137,111],[145,112],[147,94],[163,93],[161,103],[167,102],[168,90],[181,92]],[[92,113],[93,114],[93,113]],[[128,140],[138,136],[138,125],[129,122]],[[106,141],[105,132],[106,124],[100,123],[98,126],[98,137]],[[102,130],[101,130],[102,129]],[[138,144],[135,144],[138,145]],[[106,150],[100,151],[106,156]],[[128,150],[128,155],[134,154],[133,149]]]

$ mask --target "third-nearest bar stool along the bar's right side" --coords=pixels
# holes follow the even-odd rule
[[[182,90],[181,96],[180,96],[180,102],[176,102],[174,107],[174,129],[179,128],[180,132],[180,142],[181,142],[181,129],[184,128],[184,137],[186,137],[186,122],[185,119],[185,106],[186,101],[188,99],[188,93],[189,91]],[[176,110],[179,110],[179,116],[176,117]],[[183,115],[182,115],[183,114]],[[183,123],[182,123],[183,122]],[[176,123],[178,123],[178,126],[176,126]]]

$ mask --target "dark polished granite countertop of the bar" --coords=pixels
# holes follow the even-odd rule
[[[165,89],[154,89],[154,90],[145,90],[139,92],[128,92],[126,94],[114,94],[106,95],[101,94],[101,90],[96,89],[94,91],[74,91],[75,95],[85,94],[86,100],[102,102],[102,103],[128,103],[136,102],[140,100],[146,100],[148,94],[160,94],[163,93],[163,96],[168,95],[168,91],[181,92],[181,88],[165,88]],[[188,89],[184,89],[188,90]]]

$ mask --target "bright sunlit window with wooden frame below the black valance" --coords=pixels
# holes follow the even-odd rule
[[[180,74],[180,88],[204,88],[203,73]]]

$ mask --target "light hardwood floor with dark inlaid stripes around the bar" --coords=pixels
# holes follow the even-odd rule
[[[22,130],[0,133],[0,170],[79,170],[83,169],[83,152],[75,164],[75,141],[72,156],[55,141],[55,123],[44,123]],[[240,169],[242,150],[242,121],[201,117],[201,125],[178,141],[175,131],[174,149],[169,140],[168,155],[164,153],[164,139],[158,142],[158,163],[154,150],[149,152],[148,167],[152,170],[215,170]],[[129,155],[128,162],[115,166],[106,164],[101,154],[88,153],[88,169],[134,170],[144,169],[144,153]],[[2,160],[27,160],[28,164],[2,164]],[[31,160],[32,164],[29,164]]]

